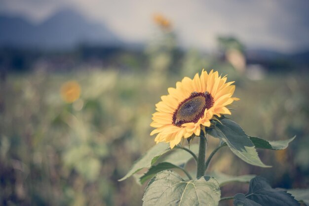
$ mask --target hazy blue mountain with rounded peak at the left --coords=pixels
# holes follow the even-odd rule
[[[118,46],[122,41],[104,24],[64,9],[34,25],[23,18],[0,16],[0,46],[63,49],[79,43]]]

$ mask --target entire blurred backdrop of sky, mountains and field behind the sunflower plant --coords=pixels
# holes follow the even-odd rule
[[[308,10],[305,0],[0,0],[0,205],[142,205],[146,185],[117,179],[154,145],[160,96],[202,68],[236,81],[231,118],[247,134],[297,135],[259,151],[272,168],[225,148],[211,169],[308,188]]]

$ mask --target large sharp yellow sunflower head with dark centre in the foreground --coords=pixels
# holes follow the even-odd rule
[[[200,130],[210,126],[210,120],[221,115],[231,115],[226,107],[238,98],[232,97],[235,85],[227,82],[226,76],[218,72],[202,71],[192,79],[185,77],[176,83],[176,88],[168,88],[168,95],[161,96],[150,124],[157,133],[154,141],[169,142],[170,147],[180,143],[182,138],[199,136]]]

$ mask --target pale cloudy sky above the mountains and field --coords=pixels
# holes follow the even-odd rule
[[[211,49],[225,35],[248,48],[285,53],[309,48],[309,0],[0,0],[0,14],[35,23],[64,8],[106,24],[129,42],[149,41],[152,17],[161,13],[185,47]]]

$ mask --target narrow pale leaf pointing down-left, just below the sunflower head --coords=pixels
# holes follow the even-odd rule
[[[169,150],[170,150],[169,144],[158,143],[154,145],[154,147],[148,150],[148,152],[146,152],[146,154],[142,158],[137,160],[133,164],[131,169],[128,171],[128,173],[118,181],[123,181],[126,178],[138,172],[139,170],[154,165],[154,163],[158,160],[158,158],[161,157],[161,155],[163,155],[164,153],[168,152]]]

